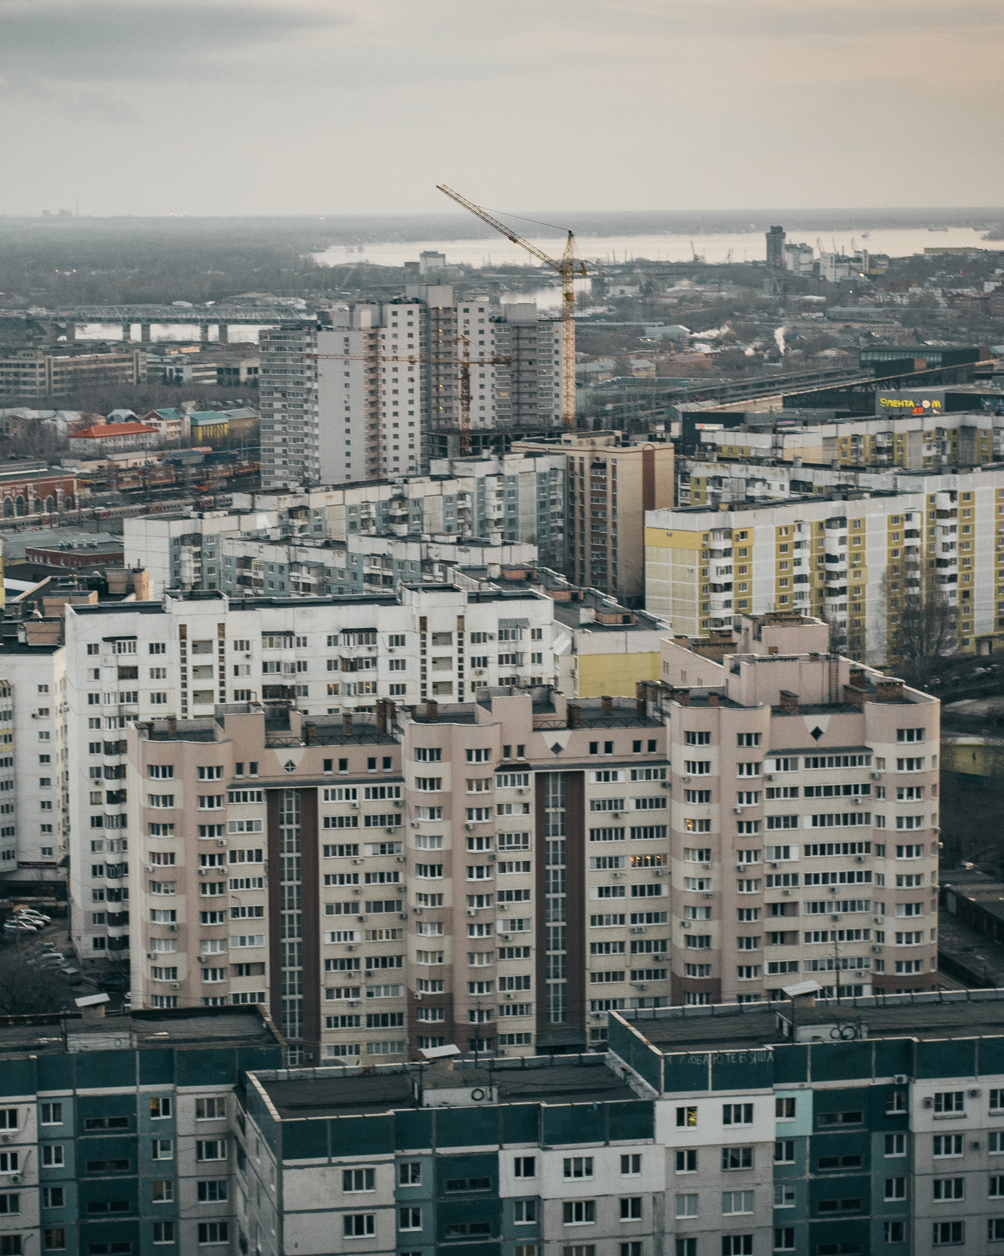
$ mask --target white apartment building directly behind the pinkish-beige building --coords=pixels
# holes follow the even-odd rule
[[[82,958],[128,945],[105,903],[129,891],[127,727],[212,720],[217,706],[371,711],[378,698],[466,701],[555,674],[550,598],[528,590],[403,587],[368,598],[164,597],[67,609],[67,769],[73,939]],[[87,788],[84,788],[84,782]],[[166,821],[167,823],[167,821]],[[110,858],[109,858],[110,857]],[[113,941],[114,939],[114,941]]]

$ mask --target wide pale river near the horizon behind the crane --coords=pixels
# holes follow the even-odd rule
[[[983,240],[983,232],[973,227],[949,227],[948,231],[927,231],[916,227],[902,230],[870,231],[867,226],[861,231],[822,236],[822,246],[826,251],[853,252],[855,247],[867,249],[870,252],[885,252],[891,257],[906,257],[915,252],[922,252],[931,247],[965,247],[975,246],[980,249],[1004,249],[1004,241]],[[552,257],[560,257],[565,247],[563,239],[551,236],[530,236],[532,244],[537,245]],[[816,234],[801,232],[797,227],[788,231],[789,244],[816,245]],[[579,236],[576,237],[579,255],[586,263],[612,264],[631,261],[639,257],[648,257],[651,261],[690,261],[694,254],[703,256],[709,263],[732,261],[763,261],[767,256],[767,244],[763,231],[749,231],[745,234],[720,234],[720,235],[625,235],[625,236]],[[693,247],[692,247],[693,246]],[[518,245],[510,244],[502,236],[491,236],[479,240],[417,240],[405,244],[366,244],[361,246],[335,245],[325,249],[324,252],[314,254],[315,259],[325,266],[340,266],[353,261],[368,261],[376,266],[403,266],[405,261],[417,261],[420,252],[446,254],[447,265],[466,264],[468,266],[536,266],[536,263],[526,250]],[[579,286],[579,285],[576,285]],[[527,299],[536,299],[541,306],[556,305],[561,303],[560,288],[543,288],[533,293],[527,291]]]

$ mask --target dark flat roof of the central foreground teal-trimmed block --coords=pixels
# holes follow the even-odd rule
[[[576,1063],[563,1063],[574,1059]],[[561,1064],[543,1061],[562,1060]],[[577,1063],[581,1060],[582,1063]],[[515,1064],[516,1061],[513,1061]],[[335,1075],[333,1075],[335,1074]],[[394,1112],[402,1108],[422,1108],[414,1095],[413,1081],[423,1076],[423,1088],[456,1089],[467,1093],[473,1088],[496,1086],[497,1102],[510,1103],[607,1103],[634,1100],[638,1094],[611,1071],[606,1056],[537,1056],[520,1068],[506,1068],[496,1061],[491,1070],[459,1066],[453,1070],[441,1064],[424,1070],[418,1066],[400,1066],[400,1071],[378,1071],[369,1075],[360,1069],[329,1070],[309,1069],[299,1075],[292,1070],[276,1078],[275,1074],[256,1074],[279,1115],[282,1119],[304,1117],[360,1117]],[[479,1107],[473,1100],[458,1102],[451,1107]],[[430,1107],[430,1105],[424,1105]]]

